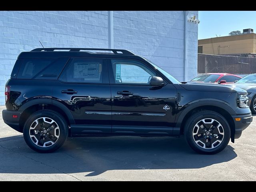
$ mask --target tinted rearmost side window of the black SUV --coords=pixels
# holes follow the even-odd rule
[[[57,79],[68,58],[23,59],[19,79]]]

